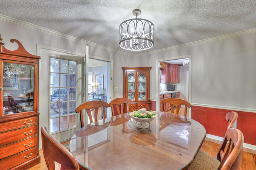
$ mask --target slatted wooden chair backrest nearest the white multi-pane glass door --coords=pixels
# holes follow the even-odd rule
[[[80,121],[81,121],[81,126],[84,127],[84,116],[83,116],[83,110],[85,109],[90,122],[92,123],[92,112],[91,110],[94,110],[94,120],[97,121],[98,120],[98,111],[99,111],[99,107],[103,107],[103,117],[104,119],[106,118],[106,112],[105,112],[105,108],[108,108],[109,105],[107,102],[101,101],[101,100],[94,100],[94,101],[89,101],[89,102],[84,102],[82,104],[80,104],[79,106],[76,107],[76,113],[80,112]]]

